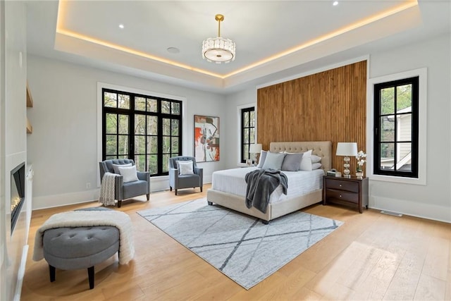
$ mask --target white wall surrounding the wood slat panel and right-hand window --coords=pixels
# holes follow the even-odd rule
[[[370,54],[369,78],[428,68],[428,146],[427,184],[407,185],[370,180],[369,207],[451,222],[450,56],[450,35]],[[229,157],[228,168],[236,166],[238,156],[237,106],[256,101],[257,93],[254,87],[227,96],[228,118],[233,121],[231,132],[227,135],[228,152],[235,154]],[[366,152],[371,150],[366,149]]]

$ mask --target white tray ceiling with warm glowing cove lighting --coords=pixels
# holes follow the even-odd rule
[[[27,51],[228,93],[450,32],[447,0],[332,3],[26,1]],[[237,45],[230,63],[202,59],[202,41],[218,33],[217,13],[225,16],[221,37]]]

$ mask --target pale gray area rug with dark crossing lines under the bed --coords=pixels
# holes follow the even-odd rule
[[[137,214],[247,290],[342,225],[302,211],[264,225],[204,198]]]

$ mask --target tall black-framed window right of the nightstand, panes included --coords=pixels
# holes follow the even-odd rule
[[[419,77],[374,85],[373,173],[419,176]]]

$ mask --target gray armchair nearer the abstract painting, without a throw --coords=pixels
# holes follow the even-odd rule
[[[193,175],[180,175],[178,173],[177,161],[192,161]],[[174,156],[169,158],[169,188],[172,191],[174,188],[175,195],[177,190],[182,188],[200,188],[204,185],[204,170],[197,167],[196,159],[193,156]]]

